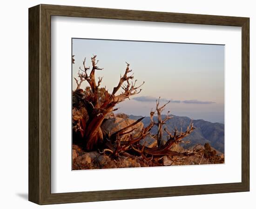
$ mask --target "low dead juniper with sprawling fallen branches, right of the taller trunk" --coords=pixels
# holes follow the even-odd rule
[[[189,124],[187,127],[187,130],[185,132],[178,131],[177,127],[175,127],[175,130],[173,133],[167,130],[167,128],[163,129],[163,125],[165,124],[166,121],[171,119],[172,117],[167,114],[167,116],[162,119],[162,111],[164,107],[169,103],[164,104],[163,106],[159,106],[160,103],[160,98],[156,100],[156,112],[157,112],[157,122],[154,121],[154,115],[155,111],[150,112],[150,124],[143,128],[140,131],[140,134],[134,138],[132,131],[126,132],[129,128],[133,127],[135,124],[140,122],[143,118],[138,119],[135,121],[133,124],[130,124],[129,126],[115,132],[111,137],[112,137],[112,143],[108,143],[108,151],[112,152],[115,154],[115,156],[118,156],[119,154],[128,156],[130,153],[137,153],[138,155],[146,155],[146,156],[151,156],[151,157],[162,157],[162,156],[177,156],[177,157],[184,157],[184,156],[191,156],[194,155],[195,153],[192,152],[177,152],[177,151],[172,151],[171,148],[182,142],[182,139],[186,136],[188,136],[195,128],[193,126],[193,123]],[[169,111],[168,111],[169,113]],[[153,126],[157,126],[157,134],[153,136],[157,140],[157,147],[149,148],[146,147],[145,145],[141,145],[139,142],[141,139],[147,137],[150,134],[150,130],[152,129]],[[163,140],[163,130],[166,131],[168,134],[168,140],[165,142]],[[121,137],[123,135],[128,135],[129,140],[122,142]]]

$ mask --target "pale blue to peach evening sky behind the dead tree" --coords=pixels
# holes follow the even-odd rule
[[[187,43],[141,42],[125,40],[72,39],[73,90],[79,67],[86,58],[97,55],[96,77],[103,76],[101,86],[112,91],[130,64],[134,78],[141,86],[140,94],[118,104],[117,112],[148,116],[155,108],[170,100],[168,110],[177,116],[224,123],[224,47]],[[82,88],[88,84],[83,82]]]

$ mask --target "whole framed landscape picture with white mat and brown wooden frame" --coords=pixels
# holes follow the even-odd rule
[[[29,8],[29,201],[249,191],[249,18]]]

